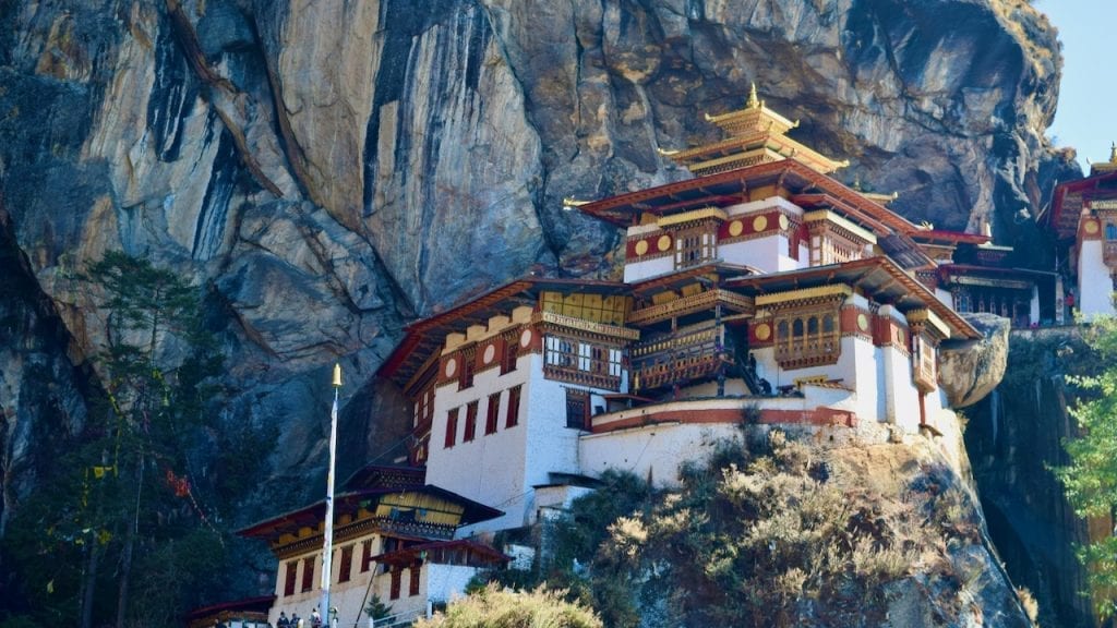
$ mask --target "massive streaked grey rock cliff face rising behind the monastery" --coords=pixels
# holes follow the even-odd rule
[[[375,435],[344,475],[399,445],[371,379],[403,324],[604,272],[618,234],[561,199],[685,177],[655,149],[709,140],[750,82],[909,218],[1033,241],[1018,211],[1071,168],[1042,136],[1059,65],[1020,0],[0,0],[0,192],[76,364],[104,332],[73,276],[103,251],[207,288],[275,477],[322,473],[341,359]]]

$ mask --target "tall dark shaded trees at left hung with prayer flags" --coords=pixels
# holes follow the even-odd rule
[[[104,394],[42,469],[39,483],[51,489],[13,508],[2,548],[20,583],[11,608],[40,626],[80,626],[86,593],[93,626],[174,625],[188,608],[227,594],[221,513],[255,468],[236,447],[259,446],[266,435],[214,429],[221,355],[203,329],[197,287],[120,251],[89,265],[82,280],[104,312]],[[223,447],[223,482],[190,454],[208,443]]]

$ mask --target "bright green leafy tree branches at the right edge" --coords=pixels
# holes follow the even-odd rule
[[[1087,397],[1071,409],[1080,436],[1063,443],[1070,464],[1058,467],[1067,498],[1081,517],[1113,517],[1117,513],[1117,320],[1099,318],[1083,330],[1089,346],[1100,356],[1100,373],[1069,378]],[[1092,539],[1078,551],[1089,568],[1098,612],[1117,611],[1117,539]]]

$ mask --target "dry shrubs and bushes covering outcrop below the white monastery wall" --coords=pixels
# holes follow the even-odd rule
[[[677,491],[612,473],[544,529],[533,571],[498,579],[567,589],[614,627],[1027,625],[967,491],[925,454],[772,431],[722,444]]]

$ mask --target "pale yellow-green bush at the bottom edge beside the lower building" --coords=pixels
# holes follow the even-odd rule
[[[450,602],[416,628],[601,628],[593,611],[564,600],[564,591],[513,591],[496,584]]]

